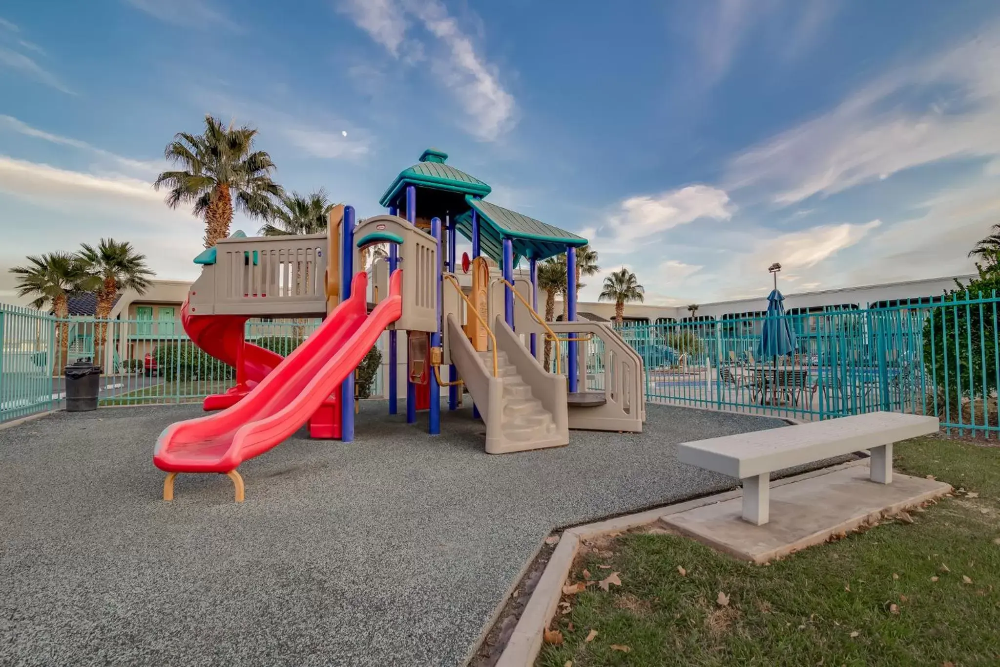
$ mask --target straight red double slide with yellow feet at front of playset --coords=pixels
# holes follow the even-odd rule
[[[351,297],[236,405],[171,424],[156,441],[153,463],[166,472],[227,473],[263,454],[305,424],[357,368],[403,312],[402,270],[389,296],[367,314],[368,276],[354,276]]]

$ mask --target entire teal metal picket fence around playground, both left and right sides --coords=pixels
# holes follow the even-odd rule
[[[629,325],[653,402],[829,419],[873,410],[935,415],[959,435],[1000,438],[1000,298],[785,315],[795,352],[756,354],[763,316]],[[247,340],[290,353],[319,320],[250,321]],[[0,421],[59,408],[62,368],[105,369],[102,405],[196,402],[234,384],[230,366],[199,350],[176,322],[57,320],[0,306]],[[603,351],[587,346],[587,386],[603,386]],[[562,351],[563,355],[565,350]],[[381,377],[376,377],[375,392]]]

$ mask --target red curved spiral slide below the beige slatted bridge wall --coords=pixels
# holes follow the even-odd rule
[[[236,386],[224,394],[205,397],[202,404],[205,410],[221,410],[233,405],[284,359],[276,352],[243,340],[248,319],[244,315],[197,315],[190,312],[187,301],[181,306],[181,324],[194,344],[206,354],[236,368]]]

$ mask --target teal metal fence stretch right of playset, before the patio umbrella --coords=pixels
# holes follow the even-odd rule
[[[933,304],[785,315],[796,349],[771,359],[757,354],[763,316],[619,331],[643,357],[650,401],[799,419],[891,410],[937,416],[958,435],[997,438],[998,303],[995,294],[958,294]]]

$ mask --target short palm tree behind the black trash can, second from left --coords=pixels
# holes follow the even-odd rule
[[[152,282],[153,271],[146,265],[146,256],[128,241],[101,239],[97,247],[84,243],[78,253],[83,270],[90,277],[90,289],[97,296],[94,317],[94,362],[100,363],[108,329],[107,319],[115,306],[118,293],[131,289],[142,295]]]

